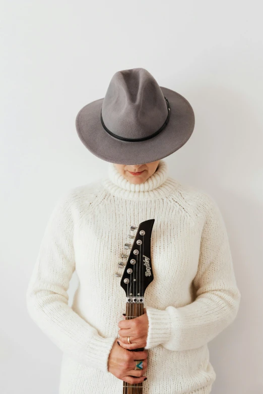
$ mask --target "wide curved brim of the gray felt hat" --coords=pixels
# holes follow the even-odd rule
[[[160,89],[169,101],[170,118],[158,135],[138,142],[114,138],[100,121],[102,98],[85,105],[76,117],[76,129],[86,148],[106,162],[133,165],[155,162],[182,147],[194,129],[193,109],[179,93],[161,86]]]

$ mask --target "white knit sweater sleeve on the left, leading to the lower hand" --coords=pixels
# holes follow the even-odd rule
[[[64,194],[49,217],[27,288],[27,310],[60,350],[79,363],[108,372],[115,338],[101,337],[68,304],[67,291],[75,271],[75,201],[74,193]]]

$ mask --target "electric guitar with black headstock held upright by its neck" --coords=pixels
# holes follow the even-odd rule
[[[130,230],[136,235],[128,235],[134,239],[133,245],[125,244],[125,249],[130,249],[129,255],[121,254],[126,258],[126,264],[119,262],[118,265],[124,268],[120,286],[126,293],[126,319],[134,319],[144,313],[144,293],[153,281],[153,271],[151,263],[151,236],[155,219],[145,220],[139,227],[131,225]],[[144,348],[134,349],[142,351]],[[123,381],[123,394],[142,394],[143,383],[127,383]]]

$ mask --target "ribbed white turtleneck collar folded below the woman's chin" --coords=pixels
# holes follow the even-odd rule
[[[115,196],[144,200],[165,197],[174,189],[176,181],[168,177],[168,165],[161,159],[155,173],[141,184],[130,183],[113,163],[108,163],[108,177],[102,180],[102,184]]]

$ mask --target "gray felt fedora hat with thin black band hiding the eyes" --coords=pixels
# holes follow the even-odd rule
[[[193,128],[189,102],[159,86],[145,68],[115,72],[105,97],[85,105],[76,117],[83,144],[116,164],[163,159],[185,144]]]

